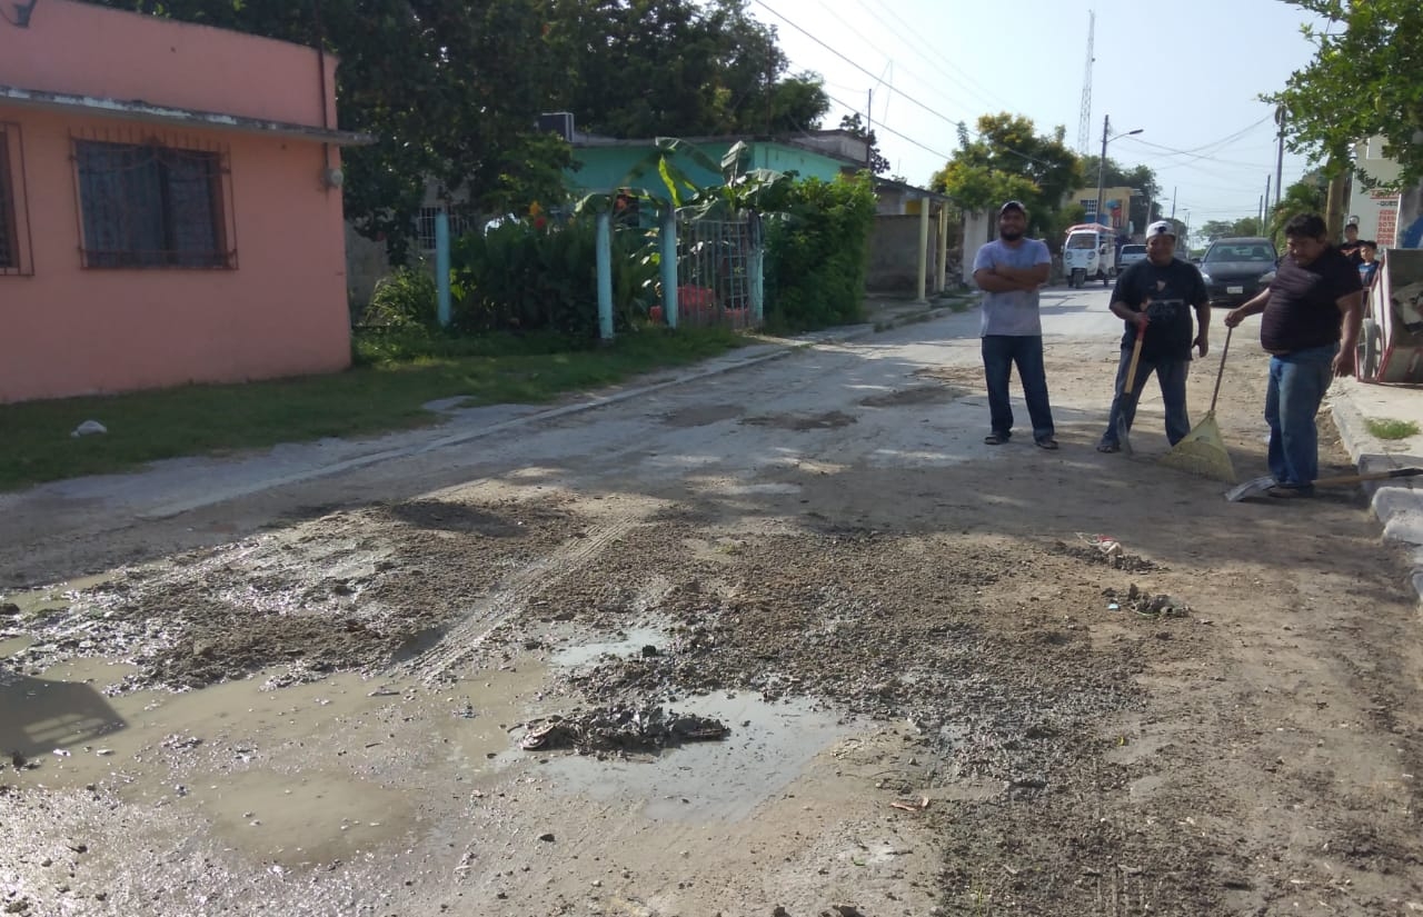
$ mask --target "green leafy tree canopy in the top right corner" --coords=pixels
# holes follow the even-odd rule
[[[1353,144],[1382,136],[1402,182],[1423,179],[1423,4],[1417,0],[1285,0],[1326,18],[1305,26],[1315,58],[1265,101],[1286,115],[1291,151],[1343,163]],[[1366,179],[1368,181],[1368,179]]]

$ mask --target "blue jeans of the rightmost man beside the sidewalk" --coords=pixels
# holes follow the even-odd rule
[[[1333,378],[1339,344],[1296,350],[1269,358],[1265,422],[1269,424],[1269,473],[1282,485],[1308,488],[1319,476],[1315,414]]]

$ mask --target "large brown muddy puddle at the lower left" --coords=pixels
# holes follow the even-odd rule
[[[359,674],[268,690],[258,674],[181,694],[101,692],[128,671],[102,660],[0,671],[0,751],[33,765],[7,778],[54,792],[100,785],[292,869],[407,846],[434,786],[458,793],[525,759],[509,754],[511,732],[548,675],[472,671],[431,691]]]

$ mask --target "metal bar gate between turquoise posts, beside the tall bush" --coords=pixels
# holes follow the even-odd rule
[[[677,323],[756,328],[764,303],[764,246],[756,213],[677,220]]]

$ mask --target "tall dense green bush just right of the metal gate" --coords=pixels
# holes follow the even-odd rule
[[[864,318],[875,193],[869,175],[805,179],[767,219],[766,323],[804,331]]]

